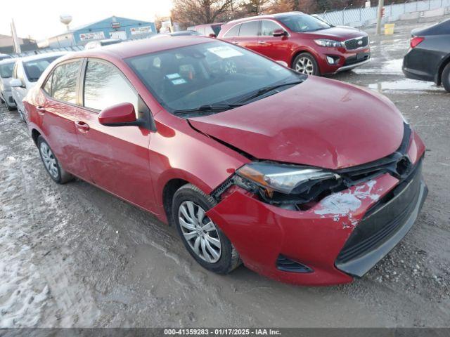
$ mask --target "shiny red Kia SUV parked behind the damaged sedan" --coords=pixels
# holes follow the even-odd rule
[[[221,27],[218,37],[284,62],[304,74],[351,70],[371,57],[365,32],[333,27],[297,12],[234,20]]]

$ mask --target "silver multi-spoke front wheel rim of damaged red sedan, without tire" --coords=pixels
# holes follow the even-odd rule
[[[179,225],[193,252],[207,263],[216,263],[221,256],[219,232],[205,213],[193,201],[183,201],[178,211]]]

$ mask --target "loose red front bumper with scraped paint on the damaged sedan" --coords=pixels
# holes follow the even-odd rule
[[[207,215],[229,237],[243,263],[259,274],[302,285],[352,282],[354,276],[361,277],[378,263],[416,220],[427,195],[420,171],[423,151],[423,143],[414,135],[408,154],[418,169],[411,183],[403,187],[404,182],[385,173],[331,194],[307,211],[281,209],[235,189]],[[401,199],[401,191],[409,191],[411,198]],[[402,205],[412,206],[390,215],[390,209]],[[380,217],[374,217],[375,213]],[[370,223],[368,218],[374,221]],[[355,246],[359,247],[356,253],[342,258],[346,249],[354,251]],[[285,258],[306,268],[281,270],[277,263]]]

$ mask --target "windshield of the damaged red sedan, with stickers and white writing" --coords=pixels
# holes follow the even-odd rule
[[[300,76],[220,41],[140,55],[127,63],[169,112],[236,104],[261,88]]]

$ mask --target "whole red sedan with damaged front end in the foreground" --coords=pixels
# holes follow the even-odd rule
[[[351,282],[427,194],[425,146],[387,98],[224,41],[67,55],[25,106],[56,183],[77,176],[155,214],[213,272],[243,261],[284,282]]]

